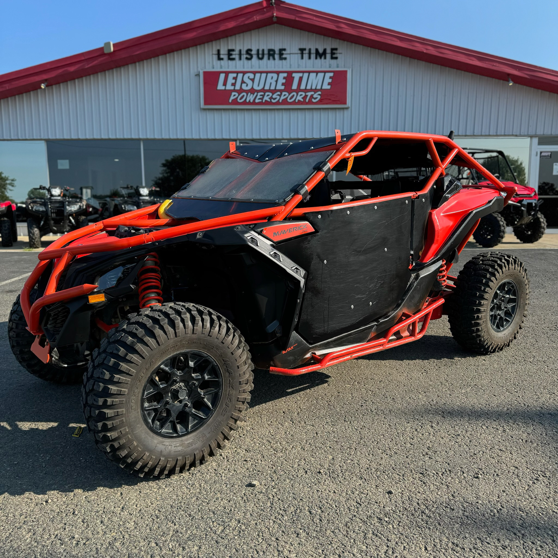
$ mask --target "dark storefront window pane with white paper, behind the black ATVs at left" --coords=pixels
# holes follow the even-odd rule
[[[50,184],[92,186],[94,196],[142,183],[140,140],[47,141]]]

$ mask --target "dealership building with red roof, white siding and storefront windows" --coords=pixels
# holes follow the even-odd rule
[[[276,0],[0,76],[0,171],[107,195],[174,155],[386,129],[500,148],[558,185],[558,71]]]

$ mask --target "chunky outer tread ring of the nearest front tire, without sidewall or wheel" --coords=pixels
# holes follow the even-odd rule
[[[166,341],[189,334],[213,338],[227,349],[237,367],[239,395],[226,425],[206,440],[201,450],[184,457],[158,459],[138,448],[129,435],[124,398],[135,365]],[[215,455],[238,428],[237,422],[244,420],[253,389],[253,368],[242,334],[217,312],[176,302],[140,310],[109,331],[100,349],[93,353],[81,396],[85,421],[97,447],[123,469],[140,477],[159,478],[184,472]]]

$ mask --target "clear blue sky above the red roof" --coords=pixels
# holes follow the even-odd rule
[[[250,2],[3,2],[0,74]],[[558,1],[296,0],[302,6],[558,70]]]

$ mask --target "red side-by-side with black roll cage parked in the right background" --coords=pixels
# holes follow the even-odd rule
[[[521,242],[533,243],[540,240],[546,231],[546,219],[538,210],[542,201],[538,199],[535,188],[518,184],[517,177],[503,151],[469,148],[465,150],[482,165],[497,171],[494,172],[494,176],[501,180],[502,184],[517,187],[516,195],[502,211],[487,215],[480,220],[477,230],[473,233],[475,241],[486,248],[497,246],[504,239],[506,227],[513,227],[513,234]],[[470,171],[470,177],[481,186],[487,184],[484,177],[474,169]],[[505,180],[506,178],[511,180]]]

